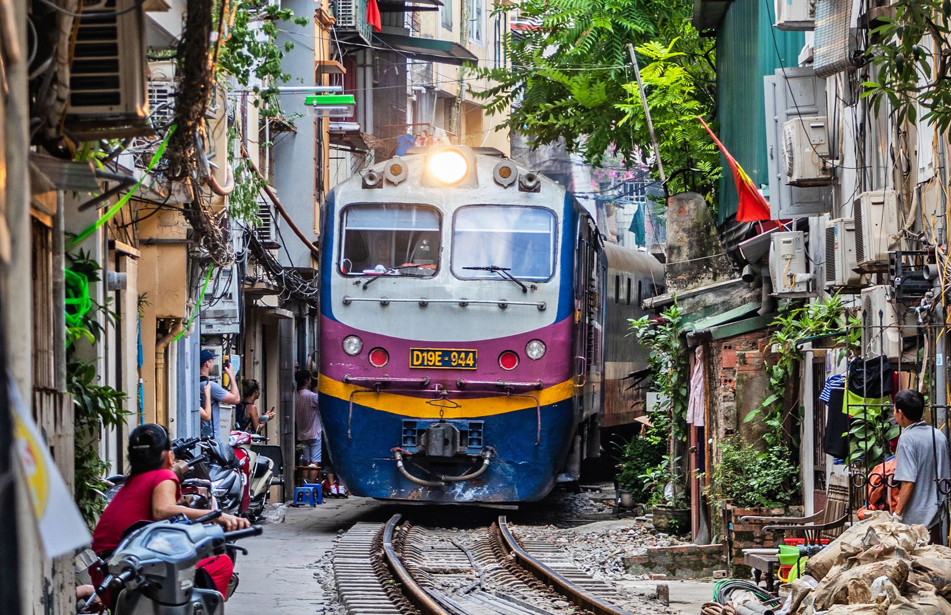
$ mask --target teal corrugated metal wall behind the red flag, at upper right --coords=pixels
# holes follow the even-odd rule
[[[771,10],[767,10],[771,4],[735,0],[717,29],[718,136],[757,186],[769,183],[763,77],[781,66],[799,66],[799,52],[805,44],[803,32],[772,28]],[[737,206],[733,176],[722,156],[720,163],[724,174],[717,223],[735,215]]]

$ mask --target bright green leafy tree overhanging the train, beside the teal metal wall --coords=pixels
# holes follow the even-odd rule
[[[678,176],[671,190],[708,193],[719,159],[696,116],[712,119],[714,42],[690,25],[691,11],[684,0],[527,0],[518,5],[518,18],[538,27],[507,36],[510,66],[478,68],[495,86],[474,95],[495,113],[511,107],[503,125],[531,144],[563,139],[596,165],[608,153],[629,165],[646,162],[650,136],[631,43],[665,169],[700,169]]]

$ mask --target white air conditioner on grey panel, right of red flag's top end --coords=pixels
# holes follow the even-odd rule
[[[783,170],[786,183],[796,186],[828,185],[829,146],[825,117],[797,117],[783,125]]]

